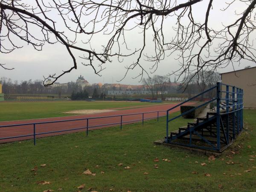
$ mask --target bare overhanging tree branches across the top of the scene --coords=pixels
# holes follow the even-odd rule
[[[201,4],[204,2],[206,4]],[[209,26],[209,19],[215,17],[211,15],[212,10],[219,3],[223,3],[223,12],[230,7],[244,7],[242,11],[235,10],[230,15],[233,21],[221,29]],[[214,71],[242,60],[256,62],[256,49],[249,41],[256,27],[255,6],[256,0],[1,0],[0,52],[6,54],[22,48],[17,39],[37,50],[44,44],[61,43],[73,59],[73,65],[68,70],[62,69],[58,75],[45,78],[44,82],[51,78],[52,83],[77,68],[74,54],[77,51],[82,53],[82,64],[92,67],[98,75],[112,57],[122,62],[124,57],[135,54],[136,58],[127,65],[124,76],[139,67],[137,77],[141,79],[148,74],[142,65],[143,59],[153,62],[149,71],[154,73],[161,60],[178,55],[180,68],[169,75],[177,74],[177,80],[181,82],[197,76],[199,71]],[[199,9],[204,12],[203,20],[194,17]],[[176,22],[172,26],[175,35],[165,32],[169,17]],[[126,33],[137,29],[140,29],[143,43],[131,50],[125,41]],[[101,52],[87,46],[96,34],[109,38]],[[78,43],[81,35],[88,41]],[[152,42],[146,40],[147,35],[153,35],[153,44],[147,45]],[[154,53],[148,53],[146,46],[150,46]],[[0,67],[9,69],[3,63]]]

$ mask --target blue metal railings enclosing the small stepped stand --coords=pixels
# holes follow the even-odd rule
[[[222,90],[222,87],[224,87],[225,89]],[[232,91],[230,91],[230,88],[232,87]],[[195,108],[192,108],[189,111],[186,111],[178,116],[173,117],[172,119],[169,119],[169,111],[179,107],[180,105],[185,104],[186,102],[189,102],[195,98],[197,98],[198,96],[201,96],[209,91],[212,91],[216,89],[216,96],[215,98],[209,100],[208,102],[205,102]],[[222,97],[222,93],[225,93],[225,97]],[[217,148],[212,148],[213,150],[217,150],[219,151],[221,149],[221,137],[220,137],[220,128],[223,128],[223,132],[224,132],[224,136],[225,136],[225,140],[227,142],[227,145],[230,143],[229,139],[230,139],[230,120],[229,120],[229,115],[232,115],[232,140],[235,139],[236,134],[239,134],[240,131],[242,131],[243,128],[243,90],[241,88],[229,85],[229,84],[224,84],[224,83],[220,83],[218,82],[216,86],[209,88],[208,90],[205,90],[202,93],[199,93],[196,96],[193,96],[192,98],[170,108],[169,110],[166,111],[166,137],[165,137],[165,142],[166,143],[171,143],[171,141],[169,140],[169,122],[173,121],[174,119],[177,119],[180,116],[186,115],[187,113],[190,113],[192,111],[195,111],[197,108],[201,108],[204,105],[209,104],[210,102],[216,101],[216,128],[217,128]],[[225,101],[224,104],[221,103],[221,101]],[[232,102],[230,104],[230,102]],[[221,109],[223,109],[225,111],[221,111]],[[224,125],[221,119],[221,116],[225,116],[226,118],[226,130],[224,131]],[[237,125],[236,125],[236,120],[237,119]],[[237,128],[237,129],[236,129]],[[197,132],[195,130],[193,130],[196,134]],[[204,138],[202,137],[202,140],[204,140]],[[180,143],[180,145],[184,145],[182,143]],[[191,144],[191,133],[190,133],[190,145],[186,145],[186,146],[192,146]],[[195,147],[193,145],[193,147]],[[205,147],[198,147],[198,148],[205,148]]]

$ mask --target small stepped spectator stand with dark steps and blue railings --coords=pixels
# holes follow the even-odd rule
[[[223,88],[225,91],[222,90]],[[216,90],[215,98],[169,119],[169,111],[212,90]],[[225,98],[222,98],[222,96],[225,96]],[[178,130],[169,133],[169,122],[214,101],[216,101],[215,111],[208,112],[205,117],[196,118],[195,122],[189,122],[187,125],[178,128]],[[223,151],[233,143],[237,135],[242,131],[242,128],[243,90],[231,85],[217,83],[216,86],[167,111],[165,143]]]

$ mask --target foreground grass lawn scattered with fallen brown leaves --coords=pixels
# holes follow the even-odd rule
[[[188,121],[191,119],[180,118],[169,127],[175,130]],[[180,148],[153,145],[154,140],[164,137],[165,118],[125,125],[122,131],[119,127],[90,131],[88,137],[82,132],[42,138],[36,146],[32,140],[2,144],[0,191],[56,192],[62,188],[77,192],[84,184],[81,192],[255,192],[256,110],[244,110],[244,121],[247,130],[221,157],[211,161]],[[153,161],[156,157],[159,162]],[[227,164],[230,160],[234,164]],[[37,170],[31,171],[35,166]],[[127,166],[130,169],[124,169]],[[87,169],[96,175],[82,174]],[[37,184],[40,181],[50,184]]]

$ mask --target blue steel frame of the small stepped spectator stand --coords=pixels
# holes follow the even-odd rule
[[[221,86],[225,87],[225,91],[221,90]],[[230,91],[230,87],[232,87],[232,91]],[[178,116],[173,117],[172,119],[169,119],[169,111],[179,107],[180,105],[185,104],[186,102],[189,102],[195,98],[197,98],[198,96],[201,96],[209,91],[212,91],[216,89],[216,97],[209,100],[208,102],[205,102],[189,111],[186,111]],[[221,95],[222,93],[225,93],[225,98],[222,98]],[[204,105],[209,104],[210,102],[216,101],[217,103],[217,108],[216,108],[216,113],[215,115],[208,119],[208,122],[210,120],[216,119],[216,144],[217,146],[213,145],[211,142],[209,142],[207,140],[206,137],[204,137],[203,135],[199,134],[197,131],[195,131],[195,128],[188,128],[187,132],[183,132],[183,134],[180,134],[175,136],[175,137],[169,137],[169,122],[177,119],[180,116],[186,115],[187,113],[190,113],[192,111],[194,111],[197,108],[200,108]],[[221,101],[224,101],[225,105],[221,105]],[[232,102],[232,104],[230,104],[230,101]],[[225,111],[221,111],[221,108]],[[230,134],[230,116],[232,116],[232,134]],[[225,127],[226,130],[224,129],[224,123],[222,121],[222,118],[226,118],[225,121]],[[237,119],[237,122],[236,122]],[[203,123],[201,123],[203,124]],[[198,124],[198,126],[201,125],[200,123]],[[196,126],[196,127],[198,127]],[[169,110],[166,111],[166,137],[165,137],[165,143],[171,143],[171,144],[175,144],[175,145],[183,145],[183,146],[187,146],[187,147],[193,147],[193,148],[201,148],[201,149],[207,149],[207,150],[214,150],[214,151],[221,151],[224,150],[225,148],[227,148],[227,146],[229,146],[231,143],[233,143],[233,141],[236,139],[236,135],[238,135],[243,129],[243,90],[232,86],[232,85],[228,85],[228,84],[224,84],[224,83],[220,83],[218,82],[216,84],[216,86],[209,88],[208,90],[205,90],[204,92],[193,96],[192,98],[170,108]],[[225,146],[221,147],[221,130],[223,131],[224,134],[224,139],[225,139]],[[177,139],[178,137],[183,137],[183,135],[187,135],[189,134],[189,144],[187,143],[178,143],[178,142],[173,142],[173,140]],[[192,134],[197,135],[199,138],[201,138],[201,140],[204,140],[205,143],[209,144],[211,147],[204,147],[204,146],[199,146],[199,145],[194,145],[192,144]],[[231,141],[230,141],[231,138]]]

